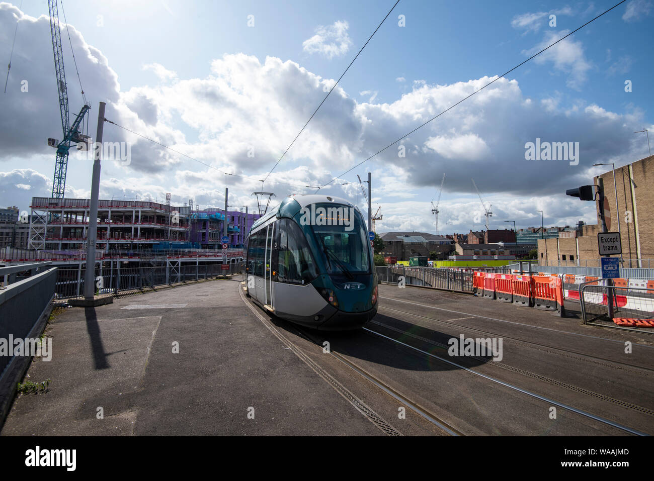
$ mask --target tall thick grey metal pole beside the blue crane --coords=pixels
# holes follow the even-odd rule
[[[97,131],[95,134],[95,156],[91,180],[91,212],[88,218],[86,238],[86,272],[84,273],[84,299],[94,298],[95,240],[97,239],[97,197],[100,190],[100,156],[102,152],[102,130],[105,124],[105,103],[100,102],[97,111]]]

